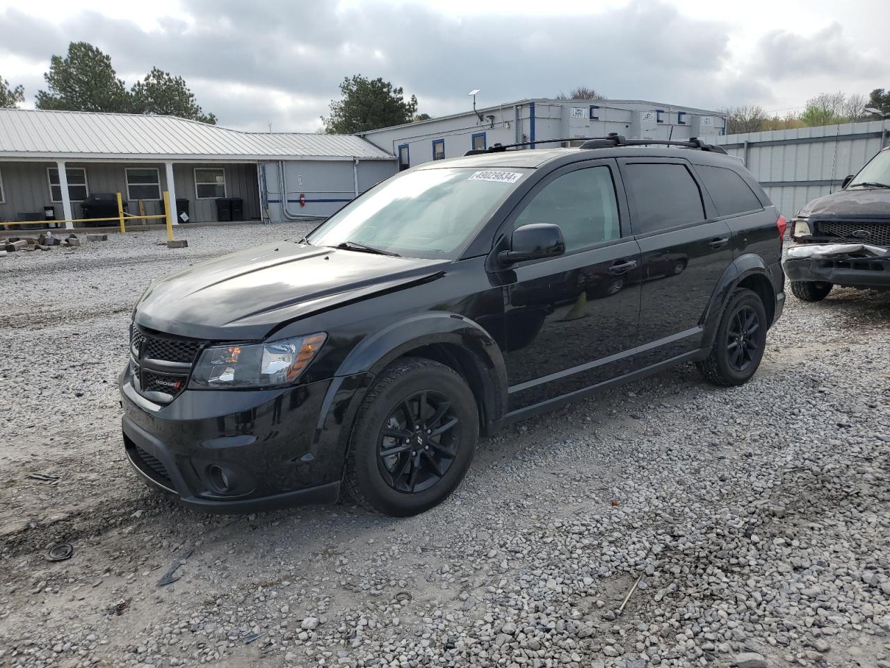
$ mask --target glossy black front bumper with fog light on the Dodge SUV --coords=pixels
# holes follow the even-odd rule
[[[183,505],[241,513],[336,501],[344,452],[322,417],[331,380],[186,390],[166,406],[136,393],[128,371],[119,386],[127,460]]]

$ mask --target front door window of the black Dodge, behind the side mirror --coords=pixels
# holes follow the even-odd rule
[[[547,183],[516,218],[515,226],[529,223],[559,225],[566,250],[618,239],[618,201],[611,169],[587,167]]]

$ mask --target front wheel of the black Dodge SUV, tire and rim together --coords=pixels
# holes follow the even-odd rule
[[[384,515],[417,515],[457,488],[478,439],[473,391],[457,371],[402,358],[380,374],[360,405],[346,458],[346,489]]]

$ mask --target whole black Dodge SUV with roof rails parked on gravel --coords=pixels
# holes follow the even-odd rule
[[[480,435],[680,363],[740,385],[781,314],[785,221],[738,159],[600,139],[437,160],[299,242],[152,282],[126,454],[204,510],[408,516]]]

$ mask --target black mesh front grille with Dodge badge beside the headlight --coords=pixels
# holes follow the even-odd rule
[[[130,325],[134,387],[156,403],[169,403],[189,383],[191,367],[205,341],[157,336]]]

